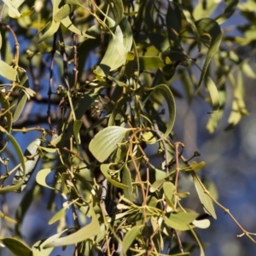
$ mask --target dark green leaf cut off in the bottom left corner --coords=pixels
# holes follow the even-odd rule
[[[34,256],[30,247],[27,247],[22,241],[12,238],[0,238],[0,241],[9,248],[9,250],[15,254],[15,256]]]

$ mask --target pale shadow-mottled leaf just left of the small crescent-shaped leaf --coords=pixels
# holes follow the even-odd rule
[[[38,152],[38,146],[40,145],[40,143],[41,143],[40,139],[36,139],[32,143],[30,143],[26,148],[24,156],[30,157],[33,154],[36,154]],[[15,173],[15,177],[13,179],[13,185],[20,185],[20,188],[16,189],[17,192],[20,192],[26,188],[26,183],[28,183],[30,177],[32,176],[32,172],[35,170],[38,164],[38,160],[39,160],[39,155],[34,156],[32,159],[27,159],[25,166],[20,166],[20,168]]]

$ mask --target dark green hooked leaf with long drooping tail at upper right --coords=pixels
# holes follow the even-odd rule
[[[220,26],[218,25],[218,22],[210,18],[203,18],[201,20],[197,20],[195,22],[195,26],[197,27],[197,30],[201,36],[201,41],[209,48],[206,61],[204,63],[204,66],[202,67],[201,78],[199,80],[196,90],[197,93],[201,88],[202,81],[205,79],[207,68],[212,59],[212,55],[214,55],[218,50],[222,38],[222,32]]]

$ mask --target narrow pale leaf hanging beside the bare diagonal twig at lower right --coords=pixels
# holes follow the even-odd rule
[[[212,199],[209,197],[209,195],[205,193],[205,190],[203,185],[201,184],[200,178],[196,175],[193,175],[193,180],[194,180],[195,189],[197,191],[201,204],[207,210],[207,212],[212,215],[213,218],[217,218],[213,204],[212,204]]]

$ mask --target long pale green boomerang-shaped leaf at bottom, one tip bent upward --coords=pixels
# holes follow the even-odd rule
[[[87,239],[90,239],[93,236],[99,235],[101,232],[100,224],[98,222],[96,213],[94,212],[92,206],[90,207],[90,214],[91,214],[90,224],[85,225],[83,228],[81,228],[80,230],[74,232],[69,236],[57,238],[45,243],[44,248],[67,246],[67,245],[79,243],[80,241],[86,241]]]

